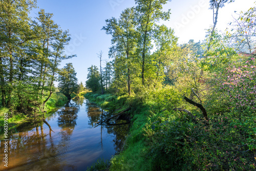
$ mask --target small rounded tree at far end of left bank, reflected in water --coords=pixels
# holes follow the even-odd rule
[[[67,63],[64,68],[59,71],[58,88],[68,99],[71,99],[71,94],[75,93],[78,88],[76,72],[72,63]]]

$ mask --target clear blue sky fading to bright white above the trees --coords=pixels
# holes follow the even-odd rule
[[[217,29],[224,31],[234,11],[245,11],[254,6],[255,0],[236,0],[219,10]],[[134,0],[37,0],[38,9],[33,9],[31,15],[36,16],[39,9],[53,13],[53,20],[62,30],[71,34],[70,45],[66,48],[68,55],[77,57],[64,60],[72,62],[77,72],[77,78],[85,83],[87,69],[91,65],[99,66],[97,53],[103,51],[103,59],[109,59],[111,36],[106,35],[101,28],[105,26],[105,19],[120,16],[129,7],[135,6]],[[169,21],[163,22],[175,30],[179,43],[195,41],[205,38],[205,29],[212,25],[212,10],[209,10],[208,0],[173,0],[164,6],[164,11],[171,9]],[[111,59],[109,59],[111,60]]]

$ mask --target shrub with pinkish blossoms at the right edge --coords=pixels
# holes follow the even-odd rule
[[[254,57],[242,64],[229,66],[215,81],[217,91],[221,92],[222,98],[228,99],[232,109],[255,110],[256,66]]]

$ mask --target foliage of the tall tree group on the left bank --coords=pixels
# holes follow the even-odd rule
[[[64,55],[70,35],[52,20],[53,14],[41,9],[35,20],[29,17],[35,7],[31,0],[0,2],[1,104],[29,114],[55,91],[59,62],[74,56]]]

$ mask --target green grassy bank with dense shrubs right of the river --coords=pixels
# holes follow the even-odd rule
[[[256,169],[255,113],[245,117],[226,109],[216,113],[216,105],[208,105],[206,121],[201,111],[179,94],[173,87],[166,87],[132,97],[86,95],[109,110],[131,107],[130,134],[124,150],[110,160],[110,170]]]

